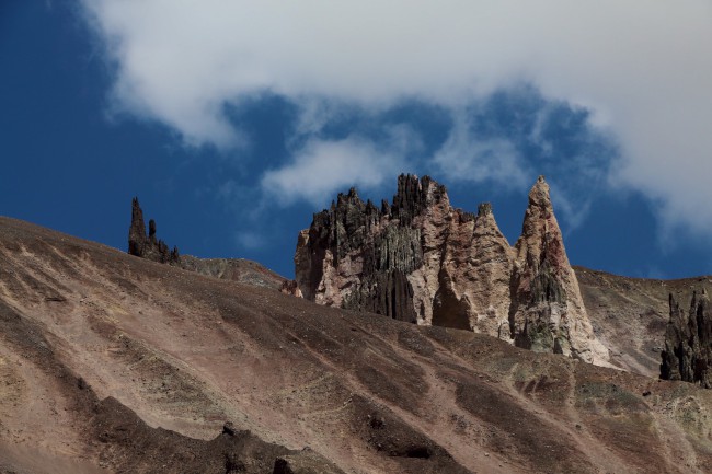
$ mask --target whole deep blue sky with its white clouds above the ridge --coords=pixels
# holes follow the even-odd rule
[[[430,174],[514,243],[544,174],[572,263],[712,274],[709,2],[437,3],[4,0],[0,212],[125,250],[136,195],[291,276],[352,185]]]

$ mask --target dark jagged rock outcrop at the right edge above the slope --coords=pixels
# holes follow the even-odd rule
[[[685,311],[669,296],[670,320],[661,354],[661,379],[682,380],[712,389],[712,309],[707,291],[692,292]]]

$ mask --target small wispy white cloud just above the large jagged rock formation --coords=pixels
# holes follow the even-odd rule
[[[401,173],[402,148],[377,149],[356,137],[338,141],[313,139],[299,150],[294,161],[262,178],[263,190],[288,205],[306,199],[324,206],[336,192],[351,186],[374,188]]]

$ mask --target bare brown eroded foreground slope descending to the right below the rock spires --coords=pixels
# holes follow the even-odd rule
[[[691,384],[321,307],[7,218],[0,319],[0,472],[712,462],[712,392]]]

